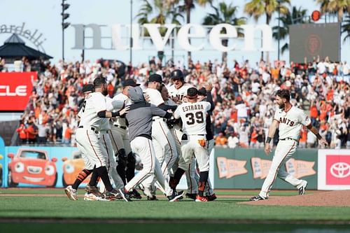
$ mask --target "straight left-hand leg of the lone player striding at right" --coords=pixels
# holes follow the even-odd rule
[[[271,167],[269,168],[269,173],[267,174],[267,177],[265,178],[265,181],[262,184],[262,188],[259,193],[260,197],[267,197],[268,192],[271,189],[272,184],[274,183],[274,180],[277,176],[279,167],[281,167],[283,160],[287,157],[289,153],[293,154],[295,152],[295,145],[295,141],[279,141],[274,152],[274,157],[272,159]]]

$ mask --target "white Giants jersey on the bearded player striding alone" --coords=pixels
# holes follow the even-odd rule
[[[292,106],[288,112],[278,109],[274,113],[274,120],[279,122],[279,139],[291,138],[299,140],[302,125],[310,125],[310,118],[302,109]]]

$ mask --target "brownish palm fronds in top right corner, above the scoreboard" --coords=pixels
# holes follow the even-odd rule
[[[344,13],[350,12],[350,0],[316,0],[321,4],[321,13],[337,15],[338,22],[342,22]]]

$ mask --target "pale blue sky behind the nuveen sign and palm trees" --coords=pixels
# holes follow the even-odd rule
[[[243,13],[244,4],[248,1],[227,1],[227,3],[234,3],[239,6],[239,16],[248,17]],[[214,1],[214,4],[220,1]],[[68,22],[72,24],[106,24],[108,27],[102,30],[103,36],[111,35],[112,24],[128,24],[130,23],[130,0],[68,0],[71,6],[67,10],[70,14]],[[308,13],[311,14],[313,10],[318,9],[315,1],[313,0],[291,0],[293,6],[302,6],[307,8]],[[137,15],[139,8],[142,4],[141,0],[133,0],[133,15]],[[191,21],[193,23],[200,24],[203,20],[205,13],[211,12],[211,8],[208,6],[202,8],[196,6],[191,15]],[[16,25],[20,26],[25,22],[25,28],[31,31],[38,30],[38,33],[42,33],[41,38],[46,40],[43,42],[43,48],[48,55],[54,57],[53,62],[57,62],[62,57],[62,29],[61,29],[61,1],[60,0],[1,0],[0,1],[0,26]],[[273,20],[270,26],[277,24],[277,21]],[[134,22],[137,19],[134,18]],[[264,23],[265,17],[261,17],[258,23]],[[253,19],[248,19],[249,24],[255,24]],[[8,38],[10,34],[0,34],[0,45]],[[25,40],[26,44],[34,47],[29,41]],[[80,60],[81,50],[73,50],[74,46],[74,29],[69,27],[65,31],[65,57],[67,61]],[[151,46],[151,45],[149,45]],[[274,47],[277,48],[277,43],[274,41]],[[345,52],[350,49],[350,41],[342,43],[342,60],[350,60],[350,53]],[[148,57],[156,55],[155,50],[144,50],[133,52],[133,63],[139,64],[141,62],[147,62]],[[100,57],[108,59],[120,59],[123,62],[129,62],[129,51],[119,50],[85,50],[85,59],[95,60]],[[171,51],[166,50],[165,55],[170,57]],[[183,59],[186,56],[186,52],[179,50],[175,52],[176,59]],[[288,61],[288,52],[281,56],[282,59]],[[232,59],[237,59],[241,62],[244,59],[249,59],[252,62],[258,61],[260,52],[241,52],[233,51],[228,53],[229,62]],[[270,59],[276,59],[277,52],[270,52]],[[214,50],[193,52],[193,60],[204,62],[208,59],[221,59],[221,52]]]

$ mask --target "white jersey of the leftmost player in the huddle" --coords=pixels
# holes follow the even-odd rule
[[[94,127],[97,131],[99,131],[106,118],[100,118],[97,113],[106,110],[106,97],[104,97],[104,95],[100,92],[90,93],[85,98],[83,108],[80,110],[79,125]]]

